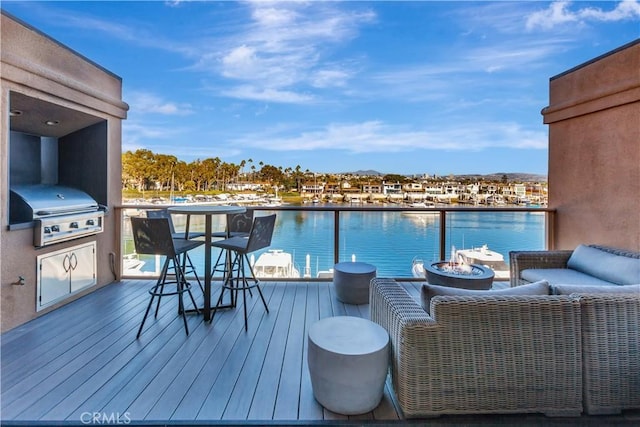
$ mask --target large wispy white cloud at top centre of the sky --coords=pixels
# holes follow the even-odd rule
[[[203,52],[198,64],[243,82],[225,94],[247,94],[247,99],[261,101],[269,101],[269,95],[274,102],[313,101],[304,88],[344,85],[353,71],[344,64],[326,67],[322,61],[328,51],[356,37],[359,27],[375,18],[370,11],[343,11],[334,3],[257,1],[249,5],[250,24],[239,26],[223,42],[226,47],[219,55]]]

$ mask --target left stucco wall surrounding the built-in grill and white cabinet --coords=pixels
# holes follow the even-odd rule
[[[121,79],[76,52],[30,28],[4,12],[0,15],[0,299],[2,331],[66,304],[114,280],[111,253],[119,253],[113,207],[121,197],[121,120],[128,106],[122,102]],[[105,232],[96,236],[36,249],[33,229],[9,230],[9,130],[10,93],[55,103],[90,114],[107,123],[108,208]],[[97,242],[98,284],[41,312],[36,312],[36,257],[88,241]],[[13,285],[24,277],[24,286]]]

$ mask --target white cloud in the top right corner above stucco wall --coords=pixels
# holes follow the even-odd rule
[[[638,0],[624,0],[614,9],[604,11],[595,7],[571,10],[572,2],[557,1],[551,3],[545,10],[534,12],[527,18],[528,30],[542,28],[545,30],[567,23],[585,23],[586,21],[614,22],[626,19],[640,18],[640,3]]]

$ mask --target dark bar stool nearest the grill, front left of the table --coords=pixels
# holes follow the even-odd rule
[[[198,311],[198,306],[193,298],[193,294],[191,293],[191,284],[187,282],[179,257],[188,250],[204,244],[204,242],[198,240],[174,239],[171,236],[171,228],[167,218],[134,217],[131,218],[131,228],[133,232],[133,241],[138,254],[165,256],[160,277],[156,284],[149,290],[151,298],[149,299],[147,310],[142,318],[142,323],[138,329],[136,339],[140,338],[140,334],[142,333],[144,323],[147,320],[147,316],[149,315],[154,299],[158,297],[156,313],[154,316],[158,317],[161,298],[163,296],[172,295],[178,296],[178,312],[182,315],[184,330],[187,335],[189,335],[189,326],[187,325],[187,317],[185,314],[182,295],[185,292],[189,294],[191,303],[196,308],[196,311]],[[169,280],[167,272],[170,268],[175,271],[175,280]],[[169,290],[165,289],[165,286],[167,285],[170,287]],[[171,285],[175,285],[175,290]]]

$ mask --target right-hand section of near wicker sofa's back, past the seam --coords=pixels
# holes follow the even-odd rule
[[[581,295],[584,408],[640,408],[640,295]]]

